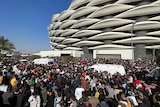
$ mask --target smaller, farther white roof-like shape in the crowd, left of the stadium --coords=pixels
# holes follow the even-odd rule
[[[51,58],[39,58],[39,59],[34,59],[33,62],[34,64],[48,64],[49,62],[53,62],[54,60]]]

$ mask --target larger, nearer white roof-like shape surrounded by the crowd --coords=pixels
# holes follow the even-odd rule
[[[89,69],[93,68],[94,71],[104,72],[107,71],[111,75],[115,73],[120,73],[121,75],[125,75],[125,69],[122,65],[114,65],[114,64],[95,64],[89,67]]]

